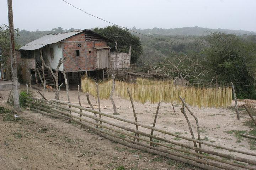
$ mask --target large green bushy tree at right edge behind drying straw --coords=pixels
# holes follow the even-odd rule
[[[238,98],[256,98],[255,87],[249,84],[255,84],[255,43],[225,33],[212,33],[206,40],[209,47],[202,55],[209,58],[209,62],[203,66],[213,70],[208,79],[217,77],[220,82],[239,82]]]

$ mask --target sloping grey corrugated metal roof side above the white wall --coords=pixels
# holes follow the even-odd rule
[[[38,38],[32,42],[29,42],[28,44],[22,46],[19,50],[38,50],[38,49],[42,48],[43,46],[46,46],[48,44],[55,44],[59,41],[69,38],[70,36],[79,34],[83,31],[84,30],[67,32],[67,33],[59,33],[59,34],[48,34],[48,35]]]

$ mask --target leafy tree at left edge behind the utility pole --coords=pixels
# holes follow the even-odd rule
[[[18,29],[14,30],[16,36],[18,36]],[[15,43],[17,49],[19,45]],[[6,66],[10,56],[10,33],[9,27],[6,24],[0,26],[0,66],[3,64]]]

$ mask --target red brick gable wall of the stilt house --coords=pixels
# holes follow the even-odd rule
[[[78,43],[81,43],[81,47],[78,47]],[[66,39],[63,41],[63,57],[66,58],[64,70],[71,72],[79,70],[79,67],[81,70],[95,69],[96,49],[94,47],[106,45],[107,42],[86,42],[84,33]],[[79,50],[79,56],[76,56],[76,50]],[[91,51],[91,53],[89,51]]]

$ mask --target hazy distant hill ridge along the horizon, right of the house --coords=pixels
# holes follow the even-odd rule
[[[235,35],[256,35],[254,31],[245,31],[245,30],[231,30],[231,29],[211,29],[211,28],[202,28],[202,27],[183,27],[183,28],[153,28],[153,29],[136,29],[133,27],[132,30],[142,33],[142,34],[159,34],[159,35],[196,35],[204,36],[208,35],[210,32],[223,32],[226,34],[235,34]]]

